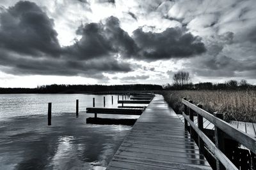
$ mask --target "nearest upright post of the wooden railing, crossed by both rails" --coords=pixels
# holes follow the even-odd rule
[[[213,115],[215,117],[218,117],[223,120],[223,114],[218,113],[218,111],[214,112]],[[221,129],[218,129],[218,127],[214,126],[214,136],[215,136],[215,145],[221,150],[221,152],[225,153],[225,141],[223,136],[223,131]],[[221,164],[220,160],[216,160],[216,169],[217,170],[223,170],[225,167],[223,164]]]

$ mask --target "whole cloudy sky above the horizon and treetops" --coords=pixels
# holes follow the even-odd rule
[[[1,0],[0,87],[256,83],[255,0]]]

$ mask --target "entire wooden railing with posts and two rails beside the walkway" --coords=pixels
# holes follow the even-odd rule
[[[224,120],[221,120],[220,114],[212,115],[203,110],[202,105],[198,104],[196,106],[193,104],[193,101],[187,101],[186,98],[182,99],[182,103],[184,104],[184,112],[182,115],[185,118],[185,128],[190,131],[191,138],[198,136],[196,140],[198,141],[200,152],[204,153],[204,148],[207,146],[214,154],[214,157],[216,157],[216,169],[237,169],[232,161],[228,159],[227,155],[225,155],[225,138],[231,138],[241,145],[246,146],[246,148],[253,153],[256,153],[256,139],[232,127]],[[194,124],[193,120],[195,114],[198,116],[197,125]],[[203,131],[203,117],[214,124],[214,142],[212,142]]]

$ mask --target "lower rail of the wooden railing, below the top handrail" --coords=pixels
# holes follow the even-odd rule
[[[204,134],[204,132],[202,132],[198,127],[196,127],[194,122],[192,122],[192,120],[190,120],[189,117],[187,115],[185,115],[185,113],[182,113],[182,115],[184,118],[186,118],[186,120],[188,120],[190,126],[196,131],[198,136],[200,136],[200,138],[208,146],[209,150],[211,150],[211,152],[214,153],[216,158],[218,160],[220,160],[220,162],[223,164],[223,166],[225,166],[226,169],[238,170],[237,167],[226,157],[226,155],[224,153],[222,153],[221,150],[214,145],[214,143],[212,143],[211,139],[209,139]]]

